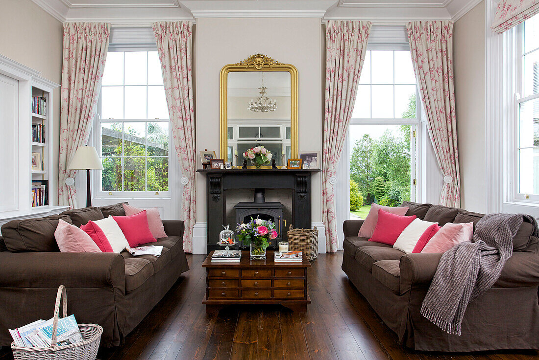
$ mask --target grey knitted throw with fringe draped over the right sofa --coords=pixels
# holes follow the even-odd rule
[[[421,314],[448,334],[461,335],[460,326],[468,303],[485,293],[500,277],[503,265],[513,255],[513,237],[528,215],[489,214],[475,225],[472,242],[466,241],[444,252]]]

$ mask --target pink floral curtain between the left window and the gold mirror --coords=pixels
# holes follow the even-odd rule
[[[195,104],[191,77],[191,23],[157,22],[153,25],[172,136],[182,171],[183,249],[192,252],[195,226]],[[186,182],[186,183],[185,183]]]

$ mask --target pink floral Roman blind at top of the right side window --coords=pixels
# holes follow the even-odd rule
[[[500,0],[492,22],[499,34],[539,13],[539,0]]]

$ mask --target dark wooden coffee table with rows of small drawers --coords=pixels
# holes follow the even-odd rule
[[[206,257],[206,296],[202,303],[206,313],[235,304],[281,304],[296,312],[306,312],[310,303],[307,294],[307,267],[301,264],[275,264],[273,251],[265,260],[251,260],[248,251],[241,252],[240,263],[212,263]]]

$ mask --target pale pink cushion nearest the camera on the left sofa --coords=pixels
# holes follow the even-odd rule
[[[54,238],[61,252],[101,252],[84,230],[61,219],[54,231]]]

